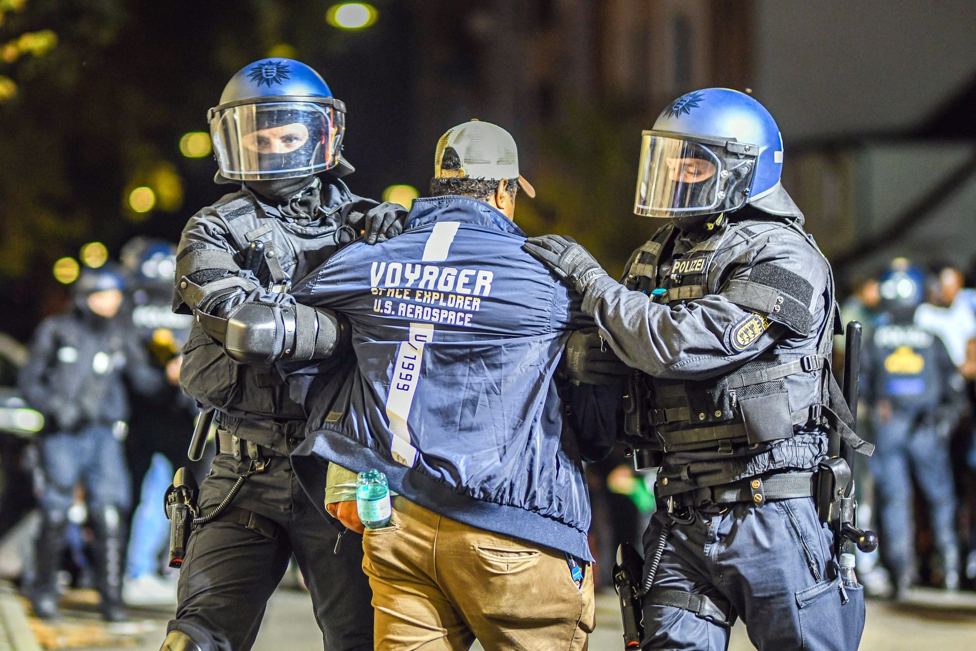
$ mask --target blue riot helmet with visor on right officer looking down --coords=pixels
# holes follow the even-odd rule
[[[681,218],[748,203],[799,215],[780,184],[782,169],[783,139],[762,104],[727,88],[688,93],[642,134],[633,212]]]

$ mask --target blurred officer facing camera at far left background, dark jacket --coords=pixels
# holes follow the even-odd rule
[[[41,322],[20,371],[21,392],[49,424],[39,441],[42,524],[29,592],[35,615],[45,619],[58,615],[67,511],[79,481],[95,532],[102,615],[110,622],[126,616],[121,592],[131,495],[122,441],[130,410],[123,378],[142,392],[156,390],[160,379],[127,320],[117,318],[124,288],[111,264],[83,269],[72,287],[74,305]]]

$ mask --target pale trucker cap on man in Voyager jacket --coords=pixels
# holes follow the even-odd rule
[[[461,159],[461,167],[442,169],[444,151],[454,149]],[[536,188],[518,174],[518,149],[505,129],[492,124],[471,120],[451,127],[437,141],[433,157],[434,179],[466,178],[485,181],[502,181],[518,178],[518,184],[530,197],[536,196]]]

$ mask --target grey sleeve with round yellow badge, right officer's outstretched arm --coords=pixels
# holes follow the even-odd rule
[[[614,352],[633,368],[652,376],[681,380],[701,380],[725,373],[791,335],[800,339],[816,335],[822,326],[827,264],[799,237],[780,235],[775,245],[772,241],[767,243],[751,263],[730,267],[718,294],[680,305],[660,305],[645,294],[604,277],[590,286],[584,311],[596,320],[600,334]],[[778,280],[769,280],[771,277]],[[770,283],[798,283],[796,278],[802,278],[809,290],[781,288],[778,296],[806,297],[807,304],[799,305],[790,299],[803,309],[796,307],[789,318],[783,318],[781,313],[790,309],[776,308],[775,292],[772,308],[767,310],[741,291],[746,284],[763,290]],[[803,314],[803,310],[807,313]]]

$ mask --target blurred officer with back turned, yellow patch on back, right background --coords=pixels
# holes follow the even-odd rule
[[[964,383],[935,334],[915,325],[924,275],[905,259],[881,276],[881,324],[862,355],[862,395],[872,407],[877,451],[871,460],[884,529],[882,549],[895,597],[914,577],[912,477],[932,518],[946,588],[959,586],[956,487],[950,435],[965,409]]]

